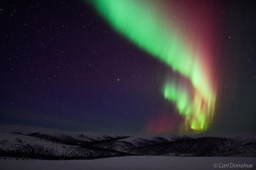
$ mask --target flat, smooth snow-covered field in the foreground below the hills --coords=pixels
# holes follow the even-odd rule
[[[167,156],[127,156],[93,160],[9,160],[1,159],[1,169],[51,170],[51,169],[241,169],[214,168],[214,164],[253,164],[256,169],[256,158],[237,157],[167,157]]]

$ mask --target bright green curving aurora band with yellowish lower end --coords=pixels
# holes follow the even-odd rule
[[[216,91],[210,86],[210,71],[203,67],[203,54],[185,43],[179,29],[151,1],[93,0],[90,3],[119,34],[190,80],[189,88],[175,79],[166,81],[164,97],[184,116],[182,131],[205,131],[214,115]]]

